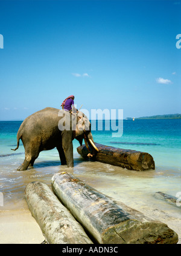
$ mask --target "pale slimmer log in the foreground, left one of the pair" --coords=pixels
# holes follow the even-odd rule
[[[83,227],[46,184],[40,181],[29,183],[25,189],[25,198],[48,243],[92,243]]]

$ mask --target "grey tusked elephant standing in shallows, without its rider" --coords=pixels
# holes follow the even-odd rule
[[[17,132],[17,150],[19,140],[22,140],[25,149],[25,160],[17,170],[27,170],[33,166],[34,161],[43,150],[54,147],[59,152],[61,164],[68,167],[74,166],[73,144],[77,139],[82,145],[83,139],[89,155],[92,157],[98,151],[94,144],[90,130],[90,122],[83,112],[68,112],[65,110],[46,107],[28,116]]]

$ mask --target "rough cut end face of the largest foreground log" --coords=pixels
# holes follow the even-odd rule
[[[103,243],[118,244],[176,244],[178,235],[164,223],[140,223],[129,220],[107,229],[103,236]]]

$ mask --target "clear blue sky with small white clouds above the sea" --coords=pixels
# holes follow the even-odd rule
[[[0,1],[0,120],[59,108],[181,113],[181,1]],[[181,43],[180,43],[181,45]]]

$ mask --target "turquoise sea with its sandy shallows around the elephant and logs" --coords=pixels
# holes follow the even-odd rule
[[[95,121],[92,121],[92,126]],[[102,121],[97,121],[102,122]],[[123,134],[113,137],[108,121],[103,130],[92,130],[94,141],[107,146],[148,152],[154,158],[155,170],[138,172],[99,162],[84,161],[77,153],[74,140],[74,167],[60,165],[56,149],[40,152],[34,167],[17,171],[24,161],[24,146],[15,152],[16,133],[22,121],[0,122],[0,192],[3,206],[0,211],[28,209],[24,198],[25,186],[31,181],[43,181],[51,186],[57,172],[69,172],[90,186],[116,200],[122,201],[149,217],[164,221],[181,235],[181,209],[158,200],[154,193],[161,191],[176,197],[181,192],[181,120],[124,120]],[[99,123],[97,123],[98,127]],[[179,198],[178,198],[179,200]],[[181,198],[180,198],[181,202]],[[180,221],[180,222],[179,222]]]

